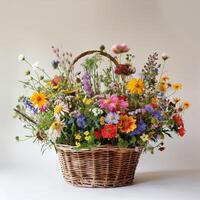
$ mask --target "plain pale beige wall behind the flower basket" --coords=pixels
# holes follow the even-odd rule
[[[185,115],[187,134],[167,140],[167,149],[143,155],[138,171],[200,169],[200,2],[198,0],[0,0],[0,170],[33,168],[58,172],[56,154],[41,155],[31,142],[17,143],[16,135],[27,134],[12,119],[17,96],[23,93],[18,80],[25,66],[20,53],[38,60],[49,70],[51,45],[71,51],[105,44],[127,43],[140,69],[149,53],[166,52],[166,73],[183,83],[179,93],[191,102]]]

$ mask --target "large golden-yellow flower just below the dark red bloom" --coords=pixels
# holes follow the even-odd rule
[[[127,83],[127,90],[131,94],[143,94],[144,93],[144,82],[141,79],[133,78]]]

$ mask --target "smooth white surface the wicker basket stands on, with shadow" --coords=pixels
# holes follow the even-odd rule
[[[134,185],[94,189],[64,182],[59,171],[0,169],[0,200],[55,199],[197,200],[200,171],[139,172]]]

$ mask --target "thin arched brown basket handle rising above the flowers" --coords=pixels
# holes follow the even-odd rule
[[[71,63],[71,67],[74,67],[75,63],[81,59],[82,57],[84,56],[87,56],[87,55],[90,55],[90,54],[94,54],[94,53],[99,53],[100,55],[104,56],[104,57],[107,57],[108,59],[110,59],[116,66],[119,65],[118,61],[113,57],[111,56],[109,53],[106,53],[104,51],[100,51],[100,50],[89,50],[89,51],[85,51],[81,54],[79,54],[74,60],[73,62]]]

